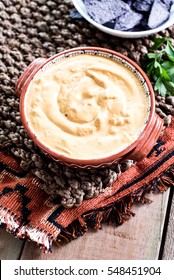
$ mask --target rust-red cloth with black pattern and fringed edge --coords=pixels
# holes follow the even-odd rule
[[[174,186],[174,118],[150,154],[132,166],[98,197],[64,209],[42,190],[41,181],[0,150],[0,224],[18,238],[29,238],[45,252],[53,241],[77,238],[103,222],[121,224],[135,202],[148,203],[147,192]]]

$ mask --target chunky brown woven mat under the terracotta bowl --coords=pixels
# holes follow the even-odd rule
[[[0,1],[0,148],[19,158],[22,169],[39,177],[45,191],[66,208],[98,196],[134,163],[129,160],[102,170],[75,171],[46,158],[21,124],[14,91],[17,78],[35,58],[50,57],[72,47],[110,48],[141,64],[152,45],[152,37],[129,40],[104,34],[84,19],[71,18],[73,9],[70,0]],[[172,26],[155,36],[173,34]],[[172,98],[157,97],[157,113],[164,118],[165,126],[174,114],[173,103]]]

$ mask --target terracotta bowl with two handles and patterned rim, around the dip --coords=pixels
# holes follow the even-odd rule
[[[32,131],[31,126],[28,124],[24,109],[26,92],[35,75],[39,75],[39,71],[45,71],[45,69],[50,67],[52,63],[58,63],[61,59],[66,59],[69,56],[84,53],[91,55],[104,55],[105,57],[113,58],[114,60],[121,62],[125,67],[128,67],[132,71],[132,73],[136,75],[136,77],[140,80],[149,104],[147,119],[142,127],[142,130],[139,132],[137,139],[121,152],[117,154],[113,153],[110,156],[104,158],[72,159],[55,151],[52,151],[41,141],[39,141],[35,133]],[[140,161],[151,151],[163,128],[163,120],[155,113],[155,96],[147,75],[135,62],[130,60],[128,57],[109,49],[98,47],[80,47],[66,50],[54,55],[49,59],[38,58],[34,60],[19,77],[16,84],[16,94],[20,96],[21,120],[29,137],[46,155],[51,157],[53,160],[74,168],[89,169],[106,167],[110,166],[113,163],[124,161],[126,159]]]

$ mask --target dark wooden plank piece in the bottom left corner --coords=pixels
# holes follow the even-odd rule
[[[0,228],[0,259],[19,259],[24,242],[24,240],[14,238],[14,236],[4,228]]]

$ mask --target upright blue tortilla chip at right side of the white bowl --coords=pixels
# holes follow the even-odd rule
[[[169,18],[170,12],[161,0],[154,0],[152,9],[148,19],[148,27],[150,29],[157,28]]]

